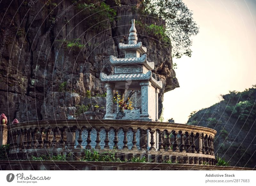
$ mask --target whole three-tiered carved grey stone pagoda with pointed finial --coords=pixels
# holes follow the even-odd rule
[[[100,79],[106,84],[107,104],[104,119],[117,119],[120,113],[117,106],[117,113],[113,113],[113,92],[116,89],[118,95],[123,97],[125,90],[141,90],[141,108],[124,110],[124,116],[119,119],[134,120],[158,120],[158,93],[163,87],[162,81],[152,77],[151,70],[154,69],[154,62],[147,61],[147,48],[142,43],[137,43],[135,19],[132,19],[132,27],[129,34],[129,43],[119,43],[119,49],[125,53],[124,58],[110,56],[111,65],[114,66],[114,74],[107,75],[100,73]],[[135,100],[137,101],[137,100]]]

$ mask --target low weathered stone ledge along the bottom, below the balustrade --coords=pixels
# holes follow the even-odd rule
[[[40,163],[38,163],[40,162]],[[37,166],[36,166],[37,165]],[[223,167],[211,165],[189,165],[170,163],[135,163],[135,162],[96,162],[96,161],[32,161],[32,160],[1,160],[1,170],[255,170],[246,167]],[[113,169],[116,167],[116,169]]]

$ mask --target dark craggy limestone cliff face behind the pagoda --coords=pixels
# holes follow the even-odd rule
[[[78,105],[104,107],[106,89],[100,72],[111,74],[109,56],[123,55],[118,43],[128,41],[131,19],[139,19],[138,8],[127,4],[141,1],[121,1],[121,6],[107,1],[117,15],[113,21],[104,20],[103,27],[96,16],[85,17],[87,10],[79,9],[75,1],[44,3],[1,2],[0,113],[9,121],[66,119],[77,113]],[[164,24],[150,17],[147,22]],[[91,24],[96,26],[90,28]],[[155,62],[156,79],[164,83],[159,93],[161,113],[163,93],[179,87],[171,46],[163,48],[143,30],[137,34],[148,48],[148,60]]]

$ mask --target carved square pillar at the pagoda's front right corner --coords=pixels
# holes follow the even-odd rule
[[[148,92],[149,87],[151,86],[150,82],[141,82],[141,118],[149,119],[150,115],[148,113]]]

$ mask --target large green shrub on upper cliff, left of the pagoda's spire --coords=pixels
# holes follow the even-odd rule
[[[116,11],[104,2],[93,4],[92,1],[81,1],[76,4],[76,9],[82,11],[86,25],[95,30],[105,28],[106,21],[109,19],[112,22],[116,16]]]

